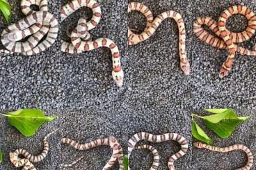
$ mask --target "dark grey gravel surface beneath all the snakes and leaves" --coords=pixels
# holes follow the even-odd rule
[[[111,77],[111,60],[108,49],[97,49],[68,55],[60,53],[61,39],[67,38],[65,29],[77,22],[78,16],[88,14],[80,10],[61,24],[61,31],[54,46],[37,56],[5,56],[0,62],[0,108],[2,112],[17,108],[42,108],[47,115],[58,119],[44,124],[33,137],[23,137],[11,127],[3,117],[0,121],[0,147],[5,152],[16,148],[26,148],[31,153],[40,153],[42,138],[51,130],[60,128],[59,133],[49,138],[51,151],[43,162],[35,163],[38,169],[59,169],[61,162],[72,162],[85,155],[74,166],[77,169],[101,169],[109,159],[111,150],[107,146],[91,151],[75,151],[70,146],[59,144],[63,136],[72,137],[82,143],[99,137],[115,135],[120,139],[125,153],[127,141],[140,131],[156,135],[180,133],[191,141],[191,117],[202,108],[237,108],[239,115],[254,114],[255,101],[255,62],[254,57],[237,54],[232,74],[218,78],[218,71],[227,52],[216,49],[200,41],[193,35],[192,24],[195,17],[211,16],[218,19],[220,13],[234,4],[234,1],[167,1],[145,0],[154,17],[166,10],[181,13],[186,24],[186,50],[191,63],[191,75],[184,76],[179,68],[177,25],[167,19],[159,26],[150,39],[134,46],[127,46],[127,26],[143,30],[143,15],[138,12],[127,14],[127,1],[100,1],[102,19],[90,31],[93,38],[109,37],[120,49],[125,82],[116,87]],[[255,1],[235,1],[256,10]],[[67,1],[49,1],[50,12],[58,16],[58,10]],[[24,17],[19,1],[10,0],[13,6],[12,22]],[[232,30],[240,30],[246,24],[241,16],[230,21]],[[1,17],[3,21],[3,17]],[[0,29],[6,27],[0,23]],[[252,40],[243,43],[251,49]],[[248,110],[245,110],[245,109]],[[244,109],[244,110],[242,110]],[[221,140],[213,133],[214,144],[246,144],[253,153],[255,146],[255,116],[237,128],[229,139]],[[176,142],[154,144],[161,154],[159,169],[167,169],[168,158],[179,149]],[[221,154],[195,149],[191,143],[189,153],[175,162],[177,169],[234,169],[246,160],[236,159],[242,152]],[[211,155],[211,156],[209,156]],[[219,157],[223,159],[218,159]],[[134,170],[148,169],[151,153],[135,151],[131,156],[130,167]],[[255,168],[255,167],[254,167]],[[4,156],[0,169],[13,169]],[[113,169],[118,169],[113,167]]]

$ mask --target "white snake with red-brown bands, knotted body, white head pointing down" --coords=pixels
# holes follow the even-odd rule
[[[99,47],[109,48],[111,50],[113,65],[112,76],[115,80],[115,83],[121,87],[123,83],[124,72],[122,71],[121,67],[118,46],[115,44],[115,42],[106,37],[92,40],[90,33],[88,32],[95,28],[97,24],[99,24],[99,20],[102,16],[99,3],[94,0],[73,0],[61,8],[61,22],[63,22],[73,12],[84,6],[90,8],[93,11],[93,17],[88,22],[86,21],[86,17],[81,17],[79,19],[77,27],[74,28],[72,33],[68,34],[70,36],[71,42],[62,41],[61,51],[74,54],[98,49]]]

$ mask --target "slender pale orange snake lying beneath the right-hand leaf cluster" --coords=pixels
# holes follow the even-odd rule
[[[218,147],[218,146],[211,146],[208,144],[204,144],[202,142],[195,142],[193,145],[196,148],[207,148],[210,151],[216,151],[216,152],[230,152],[234,150],[242,150],[246,153],[248,162],[244,167],[241,167],[237,170],[248,170],[251,167],[253,167],[253,153],[250,151],[250,149],[242,144],[234,144],[232,146],[227,146],[227,147]]]

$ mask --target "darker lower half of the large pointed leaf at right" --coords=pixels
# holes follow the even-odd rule
[[[219,137],[225,139],[230,137],[233,133],[234,128],[237,127],[238,124],[245,121],[249,117],[237,117],[236,119],[223,119],[222,121],[218,122],[217,124],[213,124],[207,119],[204,120],[205,126],[210,130],[213,130]]]

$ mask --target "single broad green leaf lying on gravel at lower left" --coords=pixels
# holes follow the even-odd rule
[[[56,117],[45,117],[39,109],[19,109],[15,112],[4,114],[8,117],[11,125],[15,126],[20,133],[26,137],[35,134],[35,131],[45,123],[45,121],[52,121]]]

